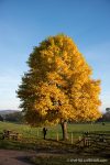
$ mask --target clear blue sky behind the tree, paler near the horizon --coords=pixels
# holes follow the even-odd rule
[[[15,90],[26,61],[45,37],[70,36],[92,78],[101,79],[101,107],[110,107],[110,0],[0,0],[0,110],[19,110]]]

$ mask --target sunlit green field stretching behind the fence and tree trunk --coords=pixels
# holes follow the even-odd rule
[[[15,124],[15,123],[10,123],[10,122],[0,122],[0,132],[3,130],[12,130],[16,131],[22,134],[23,138],[29,138],[29,139],[42,139],[42,128],[31,128],[30,125],[26,124]],[[72,132],[73,132],[73,138],[78,138],[81,135],[82,132],[106,132],[110,131],[110,122],[107,122],[105,125],[102,123],[75,123],[75,124],[69,124],[68,123],[68,135],[70,138]],[[62,139],[62,129],[61,125],[55,125],[55,127],[47,127],[47,139],[53,139],[55,140],[57,138],[57,134],[59,139]]]

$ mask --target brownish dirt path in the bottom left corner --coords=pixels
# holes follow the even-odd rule
[[[0,150],[0,165],[32,165],[28,162],[28,157],[35,154],[35,152]]]

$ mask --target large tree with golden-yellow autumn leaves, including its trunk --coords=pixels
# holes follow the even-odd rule
[[[30,70],[18,89],[21,108],[31,125],[61,123],[67,139],[67,121],[92,121],[100,117],[100,80],[73,40],[50,36],[31,53]]]

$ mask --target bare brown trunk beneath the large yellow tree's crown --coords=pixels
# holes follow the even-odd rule
[[[63,131],[63,140],[68,140],[68,133],[67,133],[67,121],[62,121],[61,122],[62,125],[62,131]]]

